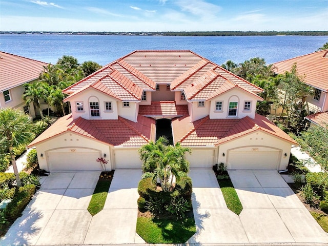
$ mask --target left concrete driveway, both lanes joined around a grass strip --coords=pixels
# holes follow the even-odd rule
[[[0,245],[143,243],[135,233],[141,170],[116,170],[103,211],[87,208],[100,172],[51,173]]]

